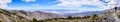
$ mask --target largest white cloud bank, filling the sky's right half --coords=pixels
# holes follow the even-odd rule
[[[104,1],[108,3],[104,3],[100,0],[58,0],[58,2],[60,3],[56,4],[55,6],[82,7],[83,5],[91,5],[91,6],[97,6],[105,10],[105,9],[114,8],[115,5],[118,3],[117,0],[104,0]]]

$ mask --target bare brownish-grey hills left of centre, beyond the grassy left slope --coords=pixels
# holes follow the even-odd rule
[[[61,15],[58,15],[57,13],[45,13],[45,12],[41,12],[41,11],[29,12],[29,11],[24,11],[24,10],[17,10],[17,11],[14,11],[14,13],[24,15],[28,19],[36,18],[38,20],[55,18],[55,17],[64,17],[64,16],[61,16]]]

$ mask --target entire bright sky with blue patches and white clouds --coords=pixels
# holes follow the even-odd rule
[[[12,10],[101,11],[120,6],[120,0],[0,0],[0,8]]]

